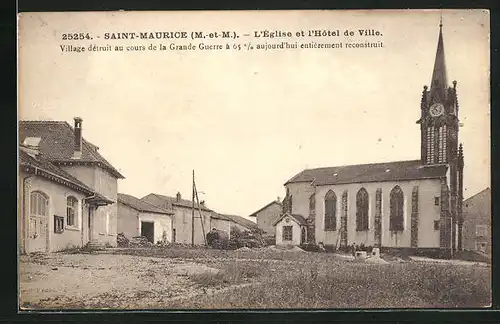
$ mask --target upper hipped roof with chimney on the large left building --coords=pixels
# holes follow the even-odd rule
[[[20,121],[19,142],[26,137],[40,137],[40,151],[47,160],[54,163],[93,163],[109,171],[113,176],[123,179],[124,176],[116,170],[99,152],[99,148],[82,138],[82,156],[73,159],[74,132],[65,121]]]

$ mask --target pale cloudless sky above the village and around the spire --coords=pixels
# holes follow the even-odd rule
[[[440,15],[457,80],[465,198],[490,186],[489,14],[483,10],[36,13],[19,18],[23,120],[83,118],[83,136],[124,176],[119,192],[200,199],[247,216],[306,168],[420,158],[424,85]],[[376,29],[382,48],[61,52],[61,33]],[[370,38],[343,36],[330,42]],[[242,38],[253,45],[281,39]],[[326,42],[310,38],[289,42]],[[203,40],[205,43],[221,40]],[[194,42],[193,42],[194,43]],[[450,84],[451,85],[451,84]]]

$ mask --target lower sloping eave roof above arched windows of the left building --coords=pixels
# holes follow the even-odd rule
[[[43,155],[39,155],[37,158],[35,158],[20,149],[19,166],[20,168],[24,168],[24,170],[27,172],[36,173],[37,175],[43,176],[49,180],[58,182],[64,186],[83,192],[87,195],[91,195],[93,202],[97,204],[114,203],[114,201],[96,193],[94,190],[92,190],[90,187],[85,185],[83,182],[81,182],[71,174],[46,160]]]

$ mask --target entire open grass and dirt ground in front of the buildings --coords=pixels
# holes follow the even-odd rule
[[[490,282],[484,264],[360,263],[330,253],[153,248],[20,258],[23,309],[483,307]]]

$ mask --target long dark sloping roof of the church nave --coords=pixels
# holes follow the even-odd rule
[[[360,182],[435,179],[445,176],[447,168],[446,164],[422,165],[420,160],[412,160],[306,169],[288,180],[285,185],[297,182],[312,183],[313,180],[315,185],[322,186]]]

